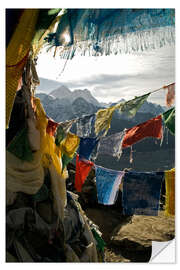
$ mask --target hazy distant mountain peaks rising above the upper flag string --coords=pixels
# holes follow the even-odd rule
[[[39,87],[39,93],[37,93],[36,96],[40,98],[47,115],[57,122],[70,120],[84,114],[92,114],[97,112],[100,108],[106,108],[116,104],[98,102],[88,89],[76,89],[71,91],[68,87],[60,85],[60,83],[56,81],[41,79],[41,82],[41,88]],[[51,88],[52,91],[49,91],[49,88],[47,90],[50,85],[53,85],[55,89]],[[43,93],[43,90],[46,93]],[[121,99],[117,103],[124,101],[124,99]],[[143,118],[142,116],[144,114],[150,113],[152,116],[155,116],[164,112],[164,110],[162,106],[146,101],[141,106],[137,116],[132,118],[131,121],[137,122],[137,118]],[[127,115],[119,113],[118,110],[115,111],[113,117],[128,120]]]

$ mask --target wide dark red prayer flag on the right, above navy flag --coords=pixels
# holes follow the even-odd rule
[[[161,115],[158,115],[157,117],[126,130],[122,147],[129,147],[145,137],[161,139],[162,135],[162,117]]]

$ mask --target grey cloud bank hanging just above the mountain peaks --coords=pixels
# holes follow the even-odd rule
[[[69,81],[66,85],[70,89],[88,88],[99,101],[113,102],[148,93],[173,81],[173,70],[169,72],[169,69],[162,67],[136,74],[99,74],[83,78],[81,81]],[[162,95],[154,97],[153,102],[163,103]]]

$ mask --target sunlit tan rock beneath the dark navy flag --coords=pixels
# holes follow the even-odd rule
[[[163,211],[158,216],[134,215],[130,223],[119,224],[114,229],[111,241],[115,245],[129,241],[144,247],[151,246],[152,241],[169,241],[174,238],[174,222],[174,218],[164,216]]]

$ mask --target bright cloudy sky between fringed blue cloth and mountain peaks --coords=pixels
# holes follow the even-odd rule
[[[117,56],[75,56],[65,60],[45,50],[38,57],[39,77],[59,81],[70,90],[89,89],[99,102],[129,100],[175,82],[175,48],[166,46],[153,51]],[[164,90],[148,101],[165,105]]]

